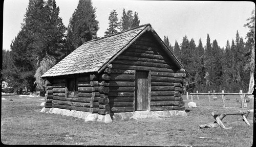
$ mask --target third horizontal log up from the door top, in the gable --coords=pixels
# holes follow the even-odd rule
[[[142,62],[152,62],[152,63],[162,63],[162,64],[169,64],[170,62],[166,62],[162,59],[150,59],[150,58],[142,58],[142,57],[133,57],[133,56],[118,56],[117,59],[119,60],[131,60],[131,61],[142,61]],[[113,72],[112,72],[113,73]]]

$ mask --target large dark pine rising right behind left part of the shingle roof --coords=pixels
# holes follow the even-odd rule
[[[96,8],[93,8],[91,0],[79,0],[75,12],[69,21],[67,43],[67,55],[73,52],[82,43],[97,38],[99,22],[96,20]]]

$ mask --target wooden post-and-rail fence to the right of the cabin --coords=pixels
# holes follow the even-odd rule
[[[225,107],[225,95],[240,95],[241,97],[241,107],[244,108],[244,103],[245,103],[245,95],[253,95],[252,93],[243,93],[242,90],[240,90],[240,93],[225,93],[224,90],[222,90],[222,93],[215,93],[215,92],[210,92],[208,91],[208,93],[186,93],[186,97],[187,100],[189,100],[188,94],[191,95],[191,101],[193,102],[193,97],[194,95],[196,95],[197,99],[199,100],[199,96],[198,95],[208,95],[208,101],[209,101],[209,105],[210,105],[210,95],[222,95],[222,103],[223,103],[223,107]]]

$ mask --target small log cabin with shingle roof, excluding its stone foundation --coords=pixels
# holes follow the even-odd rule
[[[185,110],[189,74],[150,24],[83,43],[49,69],[46,108],[99,114]]]

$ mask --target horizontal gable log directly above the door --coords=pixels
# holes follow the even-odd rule
[[[161,72],[174,72],[173,69],[150,67],[150,66],[123,65],[123,64],[113,64],[113,69],[151,70],[151,71],[161,71]]]

